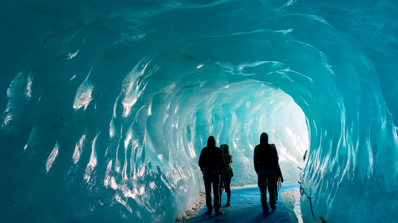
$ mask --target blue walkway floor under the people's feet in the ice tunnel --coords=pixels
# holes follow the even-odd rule
[[[224,212],[222,216],[214,216],[206,214],[206,206],[197,214],[191,223],[198,222],[292,222],[289,213],[283,202],[281,193],[299,188],[298,184],[282,184],[280,191],[278,192],[277,210],[270,211],[264,214],[261,208],[260,202],[260,190],[258,187],[248,187],[241,189],[231,190],[231,204],[232,206],[227,207],[227,194],[222,193],[222,206],[221,209]],[[267,201],[269,204],[269,198],[267,194]]]

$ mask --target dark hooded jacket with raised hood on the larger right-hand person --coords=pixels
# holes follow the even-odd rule
[[[275,146],[268,144],[268,135],[263,132],[260,136],[260,144],[254,148],[254,170],[278,170],[278,152]]]

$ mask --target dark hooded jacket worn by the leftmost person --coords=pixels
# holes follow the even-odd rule
[[[210,136],[207,140],[207,147],[202,149],[199,157],[199,166],[203,175],[220,174],[224,166],[224,157],[220,148],[215,146],[215,139]]]

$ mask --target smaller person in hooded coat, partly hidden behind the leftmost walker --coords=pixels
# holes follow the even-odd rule
[[[234,159],[232,158],[230,149],[227,144],[221,145],[221,151],[222,151],[222,155],[224,157],[225,165],[224,165],[223,171],[220,175],[220,177],[221,177],[220,187],[219,187],[220,206],[221,206],[222,185],[224,185],[225,191],[227,192],[227,206],[231,206],[230,184],[231,184],[231,178],[234,176],[234,173],[232,172],[232,168],[231,168],[231,163],[234,161]]]

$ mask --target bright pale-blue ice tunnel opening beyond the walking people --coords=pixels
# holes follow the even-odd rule
[[[213,135],[216,144],[228,144],[234,157],[236,175],[232,185],[255,184],[253,150],[260,134],[277,145],[285,182],[297,182],[303,154],[309,147],[305,115],[293,99],[280,89],[256,80],[223,86],[202,99],[192,111],[187,125],[188,147],[195,148],[194,159]],[[243,174],[244,173],[244,174]]]

